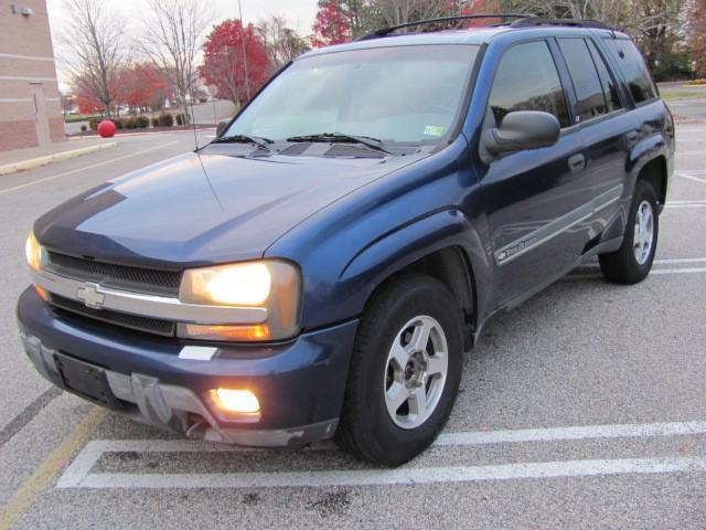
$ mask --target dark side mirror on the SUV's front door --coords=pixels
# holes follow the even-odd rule
[[[549,147],[559,140],[561,126],[556,116],[538,110],[515,110],[505,115],[500,127],[483,135],[484,147],[491,155]]]

